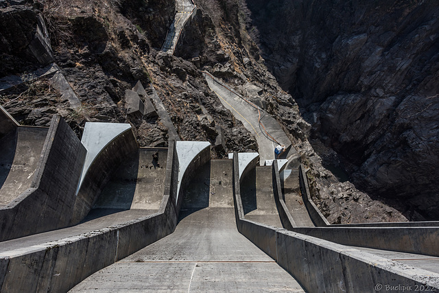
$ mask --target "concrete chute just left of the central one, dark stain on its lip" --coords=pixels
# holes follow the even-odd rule
[[[158,159],[152,155],[158,153]],[[93,209],[78,225],[0,242],[0,253],[54,242],[152,215],[163,200],[167,149],[139,148],[112,175]]]

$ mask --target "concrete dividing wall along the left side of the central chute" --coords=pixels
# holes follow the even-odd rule
[[[167,177],[158,213],[56,242],[0,253],[1,292],[67,292],[89,275],[175,229],[178,183],[175,141],[169,141]]]

